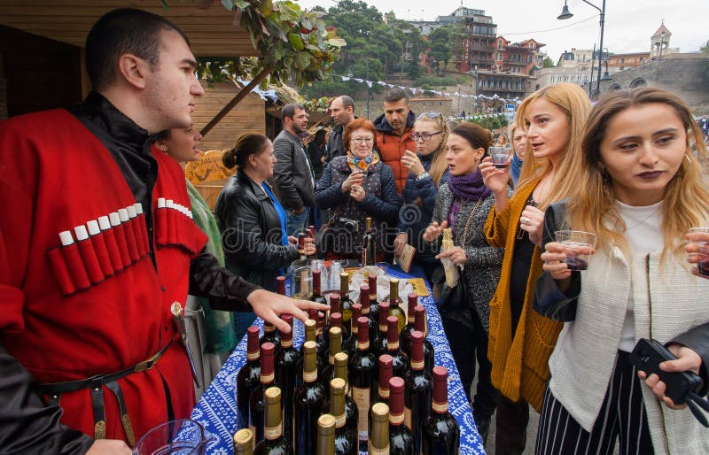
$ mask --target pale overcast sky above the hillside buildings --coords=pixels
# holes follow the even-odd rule
[[[599,7],[602,4],[602,0],[590,1]],[[382,13],[393,11],[397,18],[410,20],[434,20],[461,5],[461,0],[365,2]],[[325,9],[336,4],[334,0],[298,0],[298,3],[305,8],[319,4]],[[568,0],[573,18],[566,20],[557,19],[564,0],[463,0],[463,5],[492,16],[497,34],[510,41],[534,38],[545,43],[547,46],[542,50],[555,61],[564,50],[592,49],[600,35],[597,10],[581,0]],[[709,40],[709,3],[705,0],[606,0],[604,48],[613,53],[650,51],[650,37],[662,19],[672,33],[671,48],[690,52]]]

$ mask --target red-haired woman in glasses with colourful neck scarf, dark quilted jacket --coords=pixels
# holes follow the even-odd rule
[[[377,130],[369,120],[347,125],[344,157],[332,158],[317,182],[316,204],[331,209],[330,229],[323,239],[328,259],[360,258],[365,219],[372,218],[378,258],[383,258],[386,223],[393,223],[401,206],[393,172],[374,152]]]

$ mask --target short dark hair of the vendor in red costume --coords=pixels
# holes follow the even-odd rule
[[[105,89],[116,79],[118,58],[133,54],[157,68],[161,33],[172,30],[190,41],[175,24],[152,12],[121,8],[105,13],[86,37],[86,71],[94,89]]]

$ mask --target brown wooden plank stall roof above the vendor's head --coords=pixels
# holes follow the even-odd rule
[[[204,3],[204,2],[203,2]],[[190,38],[199,57],[253,57],[249,35],[234,25],[234,13],[220,1],[199,8],[191,0],[0,0],[0,24],[83,47],[90,27],[105,12],[116,8],[137,8],[160,14]]]

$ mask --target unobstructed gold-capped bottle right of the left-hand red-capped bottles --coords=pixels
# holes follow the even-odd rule
[[[293,393],[293,447],[299,455],[311,455],[317,448],[317,418],[323,413],[325,389],[317,381],[316,342],[303,343],[302,382]]]

